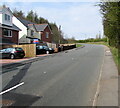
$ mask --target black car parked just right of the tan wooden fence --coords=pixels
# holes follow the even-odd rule
[[[54,49],[53,48],[49,48],[48,46],[45,45],[37,45],[36,46],[36,54],[49,54],[49,53],[53,53]]]

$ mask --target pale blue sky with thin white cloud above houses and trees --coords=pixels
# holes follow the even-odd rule
[[[11,10],[15,8],[27,14],[33,10],[38,16],[55,22],[61,26],[66,38],[74,37],[77,40],[95,38],[103,35],[102,15],[96,2],[5,2]]]

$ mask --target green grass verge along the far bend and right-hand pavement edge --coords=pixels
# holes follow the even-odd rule
[[[111,50],[114,62],[118,67],[118,72],[119,72],[119,75],[120,75],[120,56],[119,56],[120,51],[118,51],[117,48],[109,46],[107,42],[88,42],[88,44],[97,44],[97,45],[106,45],[106,46],[108,46],[110,48],[110,50]]]

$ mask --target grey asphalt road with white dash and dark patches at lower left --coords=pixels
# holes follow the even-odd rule
[[[103,58],[104,46],[86,44],[4,70],[3,105],[92,106]]]

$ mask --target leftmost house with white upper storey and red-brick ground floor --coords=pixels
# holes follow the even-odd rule
[[[9,40],[9,43],[18,44],[18,32],[20,29],[13,24],[13,14],[6,6],[0,6],[0,37]],[[1,43],[3,44],[3,42]]]

